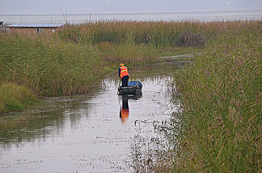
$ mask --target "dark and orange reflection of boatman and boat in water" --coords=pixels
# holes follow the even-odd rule
[[[128,120],[129,117],[129,107],[128,107],[128,100],[138,100],[142,97],[142,93],[135,94],[135,95],[119,95],[120,99],[122,99],[122,106],[120,105],[120,113],[119,117],[122,124]],[[122,98],[121,98],[122,97]]]

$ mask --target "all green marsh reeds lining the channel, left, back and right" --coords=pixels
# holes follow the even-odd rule
[[[0,50],[0,87],[21,86],[33,99],[88,93],[120,61],[148,64],[164,61],[159,55],[197,52],[174,74],[172,101],[179,107],[154,125],[161,135],[144,142],[138,137],[134,171],[262,170],[259,20],[86,22],[57,35],[1,34]],[[3,98],[6,112],[14,104]]]

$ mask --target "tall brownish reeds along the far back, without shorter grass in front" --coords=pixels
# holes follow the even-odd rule
[[[230,28],[247,21],[122,21],[103,20],[70,25],[60,37],[76,43],[147,44],[154,48],[204,45],[205,40],[218,37]],[[188,39],[190,39],[188,41]]]

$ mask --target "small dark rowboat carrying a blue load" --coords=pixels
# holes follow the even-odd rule
[[[142,84],[139,81],[130,81],[127,87],[120,86],[118,91],[120,95],[124,94],[138,94],[142,92]]]

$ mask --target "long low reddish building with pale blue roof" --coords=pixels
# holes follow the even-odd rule
[[[10,32],[21,32],[21,33],[54,33],[62,31],[65,24],[32,24],[32,23],[21,23],[6,26]]]

